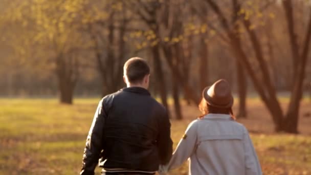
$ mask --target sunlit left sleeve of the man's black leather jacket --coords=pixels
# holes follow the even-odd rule
[[[88,132],[80,174],[94,174],[94,170],[100,158],[100,153],[103,149],[102,139],[105,115],[102,99],[98,104],[90,131]]]

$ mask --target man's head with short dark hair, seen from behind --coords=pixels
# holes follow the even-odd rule
[[[148,89],[150,68],[142,58],[133,57],[127,60],[123,67],[123,79],[128,87],[140,86]]]

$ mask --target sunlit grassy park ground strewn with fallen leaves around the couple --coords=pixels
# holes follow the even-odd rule
[[[0,99],[0,174],[78,174],[85,139],[99,99]],[[286,104],[286,99],[281,100]],[[311,174],[311,102],[304,100],[300,135],[275,134],[258,99],[248,99],[251,132],[264,174]],[[236,107],[235,107],[236,108]],[[172,119],[174,147],[199,113],[183,105],[184,120]],[[97,168],[99,174],[100,168]],[[187,174],[187,164],[170,174]]]

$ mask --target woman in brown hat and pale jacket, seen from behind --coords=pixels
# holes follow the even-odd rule
[[[188,158],[189,174],[262,174],[248,130],[235,122],[233,97],[226,80],[205,88],[202,112],[189,124],[170,162],[160,171],[181,166]]]

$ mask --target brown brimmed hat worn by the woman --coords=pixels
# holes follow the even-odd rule
[[[228,81],[220,79],[203,90],[207,104],[214,107],[228,108],[233,105],[233,96]]]

